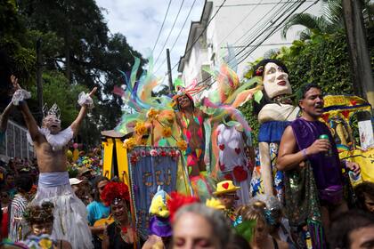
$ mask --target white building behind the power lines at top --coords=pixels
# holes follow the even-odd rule
[[[313,14],[321,10],[318,1],[227,0],[222,5],[223,2],[206,1],[200,20],[191,23],[185,52],[178,65],[178,72],[187,85],[193,80],[210,82],[204,68],[219,65],[227,54],[228,45],[237,54],[236,60],[240,62],[237,73],[241,78],[248,68],[248,61],[263,57],[264,52],[271,49],[290,45],[297,39],[301,27],[291,28],[287,40],[280,36],[281,21],[292,10],[297,9],[297,13],[307,9],[306,12]],[[278,31],[271,35],[272,30]]]

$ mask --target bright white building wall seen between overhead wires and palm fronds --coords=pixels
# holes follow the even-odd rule
[[[209,14],[208,20],[215,14],[219,6],[223,3],[223,0],[211,0],[213,2],[212,11]],[[262,5],[248,5],[262,3]],[[235,53],[240,52],[242,46],[247,45],[249,40],[260,35],[264,30],[264,24],[268,23],[275,13],[282,12],[277,10],[276,4],[278,0],[256,0],[256,1],[243,1],[243,0],[230,0],[226,1],[224,6],[215,15],[215,18],[207,26],[207,36],[205,41],[196,43],[192,48],[191,57],[188,58],[184,64],[182,71],[182,78],[186,85],[191,84],[193,79],[196,78],[198,82],[202,80],[201,67],[203,65],[209,65],[210,68],[219,66],[222,58],[227,55],[227,45],[232,46]],[[282,1],[287,2],[287,1]],[[247,5],[246,5],[247,4]],[[302,4],[297,12],[304,11],[306,7],[313,4],[312,1],[307,1]],[[230,5],[230,6],[226,6]],[[278,5],[280,6],[280,4]],[[321,10],[321,4],[314,4],[307,12],[317,15]],[[270,14],[265,15],[267,12]],[[241,24],[240,22],[247,17]],[[240,25],[239,25],[240,24]],[[235,28],[235,29],[234,29]],[[203,28],[201,28],[202,30]],[[265,52],[270,51],[274,48],[280,48],[281,46],[289,46],[292,41],[297,39],[297,33],[304,28],[293,27],[289,29],[287,39],[284,40],[280,36],[280,31],[276,32],[268,39],[264,41],[264,44],[274,45],[262,45],[252,52],[247,59],[243,60],[237,69],[238,76],[242,78],[244,72],[248,70],[248,61],[254,61],[259,57],[263,57]],[[195,36],[199,36],[200,32],[196,32]],[[246,36],[243,36],[246,35]],[[251,35],[251,39],[248,37]],[[243,36],[243,37],[242,37]],[[193,40],[195,40],[194,38]],[[258,41],[254,44],[257,44]],[[244,54],[241,52],[237,60]]]

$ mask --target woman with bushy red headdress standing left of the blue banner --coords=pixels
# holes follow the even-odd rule
[[[128,187],[122,182],[110,182],[105,186],[101,196],[104,203],[110,205],[114,218],[114,222],[105,229],[102,248],[133,248],[134,243],[137,243],[137,236],[128,216],[126,204],[130,199]]]

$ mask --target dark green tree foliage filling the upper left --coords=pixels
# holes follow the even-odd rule
[[[127,44],[126,36],[110,34],[94,0],[4,0],[0,20],[6,24],[0,27],[0,49],[10,58],[9,63],[4,62],[7,75],[2,84],[9,86],[8,78],[15,74],[22,85],[35,90],[39,41],[44,100],[53,103],[56,98],[62,121],[69,124],[77,114],[77,90],[98,86],[97,105],[85,119],[81,140],[97,143],[101,130],[118,124],[123,101],[112,94],[114,85],[123,84],[118,69],[130,71],[133,56],[142,59],[142,55]],[[142,59],[142,65],[144,62]],[[30,101],[35,111],[36,98],[34,94]]]

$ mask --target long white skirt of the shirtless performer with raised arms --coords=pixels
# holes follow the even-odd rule
[[[93,248],[85,205],[71,189],[67,172],[39,174],[37,195],[30,205],[42,205],[45,201],[54,205],[54,239],[69,241],[74,249]]]

